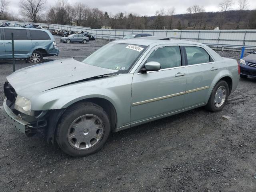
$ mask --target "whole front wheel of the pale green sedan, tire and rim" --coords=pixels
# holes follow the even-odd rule
[[[68,108],[56,129],[56,141],[70,156],[86,156],[100,150],[110,134],[110,121],[103,108],[80,102]]]

